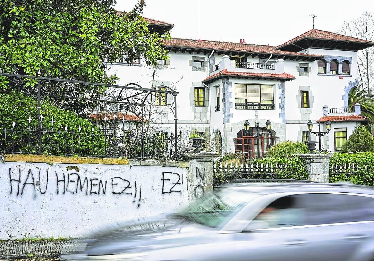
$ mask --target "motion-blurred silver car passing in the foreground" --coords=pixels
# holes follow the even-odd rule
[[[374,190],[230,184],[180,213],[118,225],[89,242],[84,260],[373,261]]]

